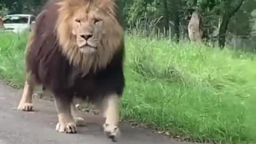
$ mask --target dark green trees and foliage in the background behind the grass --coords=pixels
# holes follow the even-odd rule
[[[2,0],[2,4],[6,5],[10,13],[35,15],[40,12],[45,2],[46,0]],[[238,5],[239,2],[244,5],[242,9]],[[180,38],[188,36],[188,21],[194,11],[198,11],[202,18],[203,37],[207,43],[215,43],[218,38],[224,42],[227,38],[230,43],[231,38],[256,37],[253,34],[255,21],[252,21],[252,12],[256,9],[255,0],[119,0],[119,3],[126,28],[150,31],[148,34],[162,34],[175,38],[177,42]],[[234,15],[236,12],[238,14]],[[228,21],[224,20],[222,24],[226,13],[229,14],[226,19]],[[232,19],[233,16],[244,18],[241,20],[247,22],[238,23],[237,18]],[[226,27],[226,24],[230,26]],[[222,28],[219,36],[221,25],[224,29]]]

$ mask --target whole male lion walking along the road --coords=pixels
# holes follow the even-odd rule
[[[125,88],[124,28],[116,0],[49,0],[37,16],[26,52],[26,80],[18,110],[33,110],[42,85],[54,97],[56,131],[76,133],[74,95],[94,103],[105,118],[104,133],[120,136],[120,100]]]

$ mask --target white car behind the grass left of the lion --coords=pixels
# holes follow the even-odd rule
[[[36,16],[31,14],[10,14],[4,16],[4,32],[20,33],[31,29]]]

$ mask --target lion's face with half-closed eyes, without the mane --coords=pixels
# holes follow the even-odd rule
[[[100,10],[96,8],[88,13],[82,8],[74,14],[72,34],[76,37],[77,46],[82,53],[95,53],[98,48],[102,47],[104,21],[107,20],[102,18]]]

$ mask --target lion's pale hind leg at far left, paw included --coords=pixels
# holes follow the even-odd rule
[[[34,83],[34,79],[32,78],[32,75],[27,74],[25,84],[24,84],[23,94],[18,106],[18,110],[23,110],[23,111],[33,110],[32,94],[34,91],[34,87],[35,87],[35,83]]]

